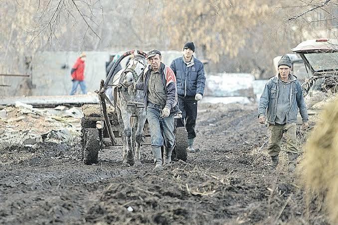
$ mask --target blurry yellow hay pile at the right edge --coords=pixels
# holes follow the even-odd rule
[[[328,104],[306,145],[305,180],[325,196],[326,209],[338,223],[338,100]]]

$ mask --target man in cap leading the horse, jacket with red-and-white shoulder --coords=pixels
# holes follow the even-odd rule
[[[153,149],[154,171],[162,169],[161,147],[164,145],[163,163],[171,161],[175,146],[174,114],[179,112],[177,103],[176,78],[169,66],[161,62],[161,52],[153,49],[147,54],[150,64],[144,75],[144,82],[135,88],[144,91],[144,105],[149,122]]]

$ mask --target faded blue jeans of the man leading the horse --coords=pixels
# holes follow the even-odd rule
[[[152,147],[166,148],[175,146],[175,135],[173,134],[173,115],[160,118],[162,108],[152,103],[147,104],[147,119],[149,123]]]

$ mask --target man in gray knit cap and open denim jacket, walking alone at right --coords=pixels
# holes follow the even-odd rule
[[[270,167],[278,165],[283,133],[286,133],[286,151],[289,156],[289,172],[295,171],[297,150],[297,114],[298,109],[303,120],[303,129],[308,127],[308,110],[304,101],[301,83],[292,75],[291,60],[284,55],[278,62],[278,75],[270,78],[265,85],[259,101],[258,118],[264,124],[268,122],[270,138],[268,151],[271,156]]]

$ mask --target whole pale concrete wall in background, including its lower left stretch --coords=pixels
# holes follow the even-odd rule
[[[120,54],[125,51],[117,51]],[[161,51],[163,62],[171,61],[182,55],[181,51]],[[100,80],[106,79],[106,61],[114,51],[86,52],[85,82],[88,92],[99,89]],[[0,96],[55,96],[69,95],[72,87],[70,71],[80,52],[36,52],[31,59],[31,77],[0,77],[1,84],[11,87],[0,87]],[[123,67],[128,57],[123,59]],[[25,74],[30,74],[26,71]],[[30,83],[31,81],[31,83]],[[78,87],[77,93],[81,94]]]

